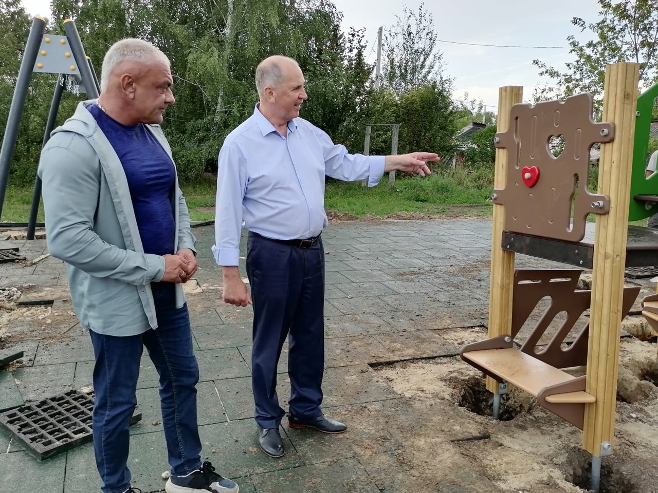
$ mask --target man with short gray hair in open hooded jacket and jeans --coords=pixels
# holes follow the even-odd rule
[[[237,493],[201,462],[182,283],[197,270],[195,237],[160,128],[174,103],[169,60],[122,39],[105,55],[99,99],[53,131],[39,162],[49,252],[68,263],[71,299],[93,345],[93,445],[104,493],[134,493],[130,417],[143,347],[160,377],[167,493]]]

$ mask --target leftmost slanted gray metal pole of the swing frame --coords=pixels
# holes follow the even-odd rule
[[[20,117],[25,107],[25,99],[28,96],[28,89],[30,88],[32,70],[34,70],[34,62],[36,62],[39,54],[44,29],[45,20],[41,17],[35,17],[32,20],[30,35],[28,35],[28,41],[25,44],[23,59],[20,62],[20,69],[18,70],[18,78],[16,78],[16,89],[14,89],[14,96],[11,100],[11,108],[9,108],[7,126],[5,127],[5,136],[2,141],[2,149],[0,149],[0,217],[2,217],[2,207],[5,203],[5,193],[7,193],[7,180],[9,179],[11,159],[14,155],[14,149],[16,149],[16,137],[18,136]]]

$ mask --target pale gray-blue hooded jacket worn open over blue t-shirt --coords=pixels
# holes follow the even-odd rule
[[[158,326],[150,283],[163,278],[164,257],[144,253],[126,175],[86,109],[92,103],[80,103],[41,151],[38,174],[48,250],[68,264],[71,300],[84,330],[141,334]],[[160,126],[147,128],[171,157]],[[170,199],[176,220],[174,251],[195,251],[178,176]],[[176,307],[185,301],[182,285],[176,284]]]

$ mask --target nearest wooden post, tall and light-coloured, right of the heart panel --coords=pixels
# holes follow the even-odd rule
[[[615,124],[615,140],[601,145],[599,160],[598,193],[610,197],[610,212],[596,216],[586,385],[596,401],[586,404],[583,429],[583,448],[595,457],[611,452],[601,445],[612,444],[615,430],[638,64],[606,66],[604,94],[603,122]]]

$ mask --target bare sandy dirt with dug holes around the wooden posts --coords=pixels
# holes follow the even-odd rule
[[[484,329],[438,332],[457,346],[486,337]],[[601,493],[658,492],[657,350],[650,342],[622,340],[616,441],[613,456],[603,459]],[[490,480],[491,489],[483,493],[587,490],[590,456],[580,448],[580,431],[525,392],[511,390],[503,400],[503,420],[493,421],[492,394],[484,379],[458,357],[402,362],[376,371],[407,402],[403,421],[392,413],[386,425],[402,443],[401,452],[388,459],[409,466],[404,479],[409,491],[436,491],[446,475],[464,470],[474,481]],[[392,481],[384,471],[382,465],[382,481]]]

